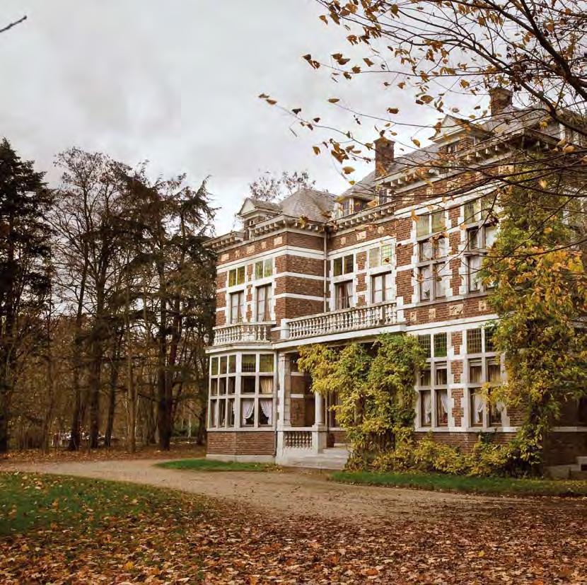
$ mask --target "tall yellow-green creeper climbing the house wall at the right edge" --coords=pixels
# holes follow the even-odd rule
[[[525,410],[521,441],[540,441],[562,405],[587,393],[587,335],[577,326],[587,313],[587,279],[581,251],[569,245],[584,220],[559,185],[530,173],[520,182],[499,195],[499,236],[484,262],[499,315],[493,341],[508,372],[492,395]]]

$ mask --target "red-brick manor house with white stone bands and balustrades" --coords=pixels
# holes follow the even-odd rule
[[[396,156],[373,144],[375,169],[336,197],[304,189],[280,202],[245,199],[242,229],[214,238],[216,328],[209,353],[209,457],[340,467],[344,429],[298,370],[306,344],[417,335],[415,431],[463,449],[480,431],[506,441],[520,412],[491,407],[482,388],[505,376],[487,325],[480,267],[499,225],[495,174],[516,149],[548,149],[560,131],[495,89],[491,117],[446,116],[431,146]],[[547,464],[587,455],[587,416],[571,405]],[[587,463],[587,458],[585,459]]]

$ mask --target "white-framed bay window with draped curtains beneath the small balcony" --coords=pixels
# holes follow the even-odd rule
[[[272,427],[274,354],[230,354],[210,359],[210,429]]]

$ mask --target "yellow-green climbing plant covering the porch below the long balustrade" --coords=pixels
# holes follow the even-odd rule
[[[312,390],[336,393],[332,407],[351,444],[349,465],[364,467],[395,446],[414,422],[414,372],[424,361],[417,339],[381,335],[371,348],[350,344],[299,348],[298,366],[312,376]]]

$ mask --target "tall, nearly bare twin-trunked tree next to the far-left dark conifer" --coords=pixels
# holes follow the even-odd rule
[[[113,313],[120,278],[116,258],[126,237],[120,184],[124,166],[104,154],[75,148],[59,154],[57,166],[62,170],[62,183],[52,216],[56,256],[63,302],[71,307],[76,327],[70,448],[79,448],[86,412],[90,444],[95,448],[105,354],[108,344],[112,348],[108,340],[117,339],[120,330]],[[116,353],[116,347],[112,351]],[[83,376],[87,392],[83,392]]]

